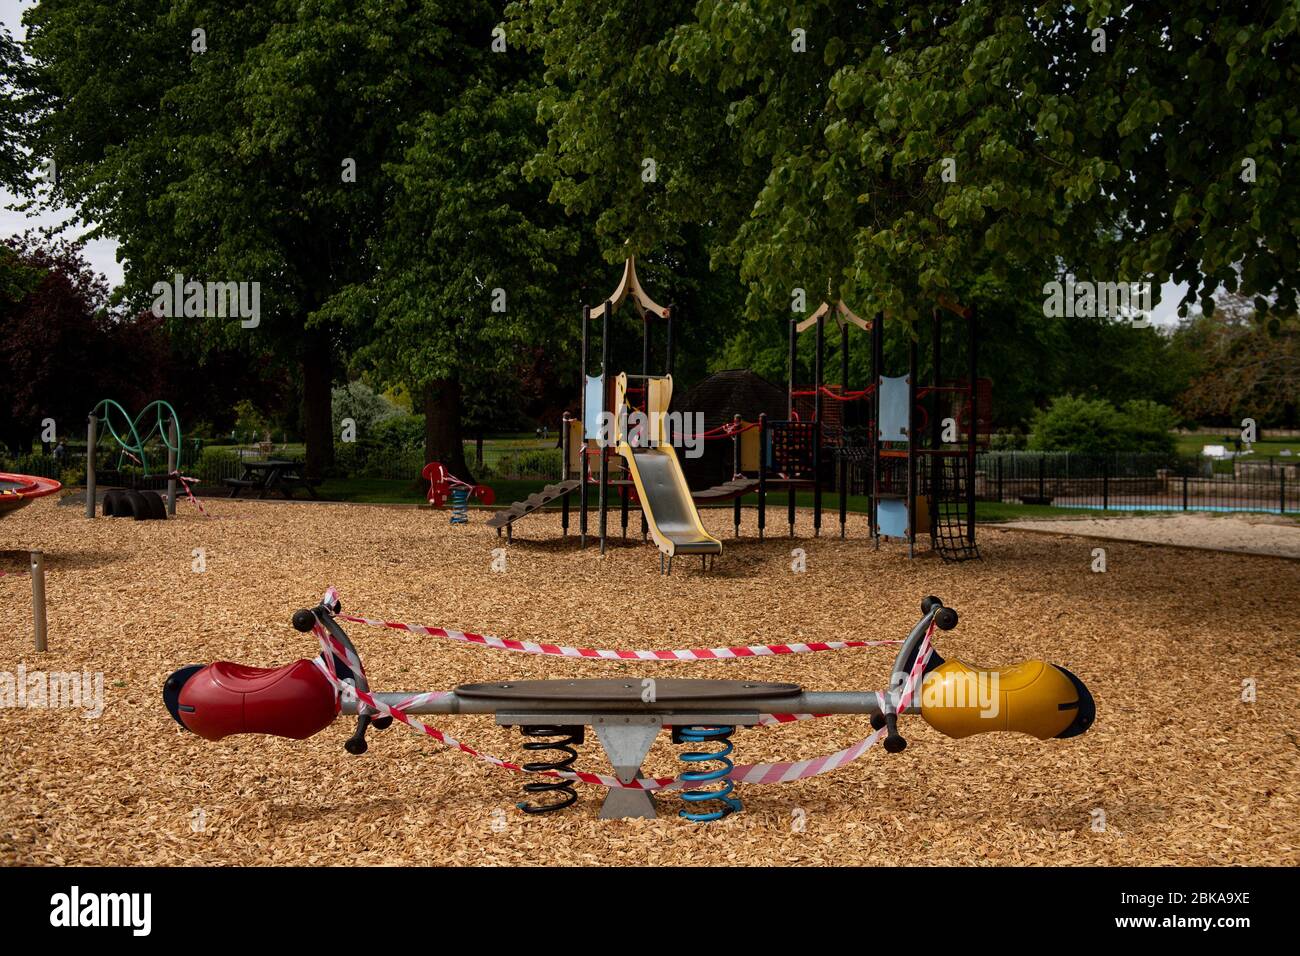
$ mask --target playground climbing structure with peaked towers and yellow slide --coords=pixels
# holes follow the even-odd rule
[[[610,363],[610,317],[630,300],[642,324],[642,371],[615,375]],[[942,315],[966,324],[965,377],[945,378],[942,369]],[[922,382],[919,334],[909,343],[905,375],[887,376],[885,319],[864,320],[842,302],[822,303],[812,315],[789,323],[789,378],[786,419],[733,421],[685,436],[675,433],[667,416],[672,398],[673,369],[672,307],[659,306],[641,286],[636,260],[624,263],[615,291],[598,307],[582,310],[582,392],[576,419],[566,414],[562,428],[563,477],[529,498],[515,502],[489,520],[497,533],[514,536],[515,522],[550,505],[560,505],[562,533],[569,533],[571,498],[577,493],[581,546],[589,537],[590,489],[597,489],[601,550],[608,540],[611,490],[619,498],[623,537],[628,532],[630,503],[641,506],[641,536],[653,536],[660,553],[660,568],[672,568],[679,553],[708,557],[722,553],[722,542],[708,536],[699,522],[698,505],[732,502],[734,532],[740,535],[742,498],[758,497],[758,535],[767,532],[768,494],[785,492],[786,520],[794,536],[796,497],[812,493],[814,536],[822,532],[823,492],[840,492],[840,537],[845,537],[848,497],[861,486],[868,498],[868,531],[879,546],[881,537],[907,542],[915,554],[918,537],[928,536],[931,549],[944,561],[978,558],[975,544],[975,460],[982,436],[991,431],[988,380],[976,376],[979,325],[972,310],[941,302],[932,312],[930,380]],[[589,326],[601,320],[601,365],[589,375]],[[650,373],[651,321],[662,319],[667,329],[664,372]],[[824,375],[826,326],[840,328],[840,384],[827,385]],[[859,390],[849,388],[850,326],[871,337],[871,381]],[[812,382],[800,384],[798,336],[815,330]],[[920,332],[919,329],[916,330]],[[857,414],[854,414],[857,412]],[[624,441],[624,423],[632,416],[649,421],[642,428],[642,446]],[[611,428],[611,420],[615,427]],[[732,477],[722,484],[692,490],[686,484],[675,445],[684,438],[731,440]],[[654,451],[651,451],[654,449]],[[670,451],[664,451],[668,449]],[[644,480],[638,464],[651,467]]]

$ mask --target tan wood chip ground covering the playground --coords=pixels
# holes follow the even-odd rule
[[[914,562],[849,538],[731,537],[729,511],[705,514],[725,553],[705,575],[658,574],[653,546],[602,558],[559,538],[558,515],[504,541],[476,512],[413,507],[182,503],[174,520],[87,522],[53,501],[0,523],[0,671],[103,671],[105,709],[0,710],[0,862],[13,864],[1273,864],[1300,862],[1300,574],[1294,562],[1113,542],[987,535],[984,561]],[[774,511],[775,529],[784,528]],[[616,519],[615,522],[616,523]],[[774,528],[774,525],[770,525]],[[828,523],[828,531],[835,525]],[[49,652],[31,644],[26,550],[44,549]],[[192,570],[194,549],[207,570]],[[802,548],[807,571],[790,570]],[[909,748],[875,748],[838,771],[741,787],[745,812],[720,823],[676,817],[601,821],[602,791],[569,810],[515,809],[523,778],[400,726],[343,750],[344,721],[311,740],[183,732],[160,697],[178,666],[272,666],[316,653],[290,626],[334,584],[344,607],[534,641],[693,648],[901,637],[935,593],[961,613],[940,650],[984,666],[1031,657],[1091,687],[1097,723],[1075,740],[1018,735],[949,740],[904,722]],[[355,627],[377,689],[450,689],[491,679],[699,676],[872,689],[892,650],[736,662],[540,658]],[[1243,682],[1257,688],[1243,702]],[[524,756],[488,717],[429,718],[489,753]],[[866,736],[864,718],[742,730],[742,762],[802,760]],[[680,763],[660,735],[654,775]],[[594,740],[582,769],[606,770]],[[1105,827],[1097,821],[1104,813]]]

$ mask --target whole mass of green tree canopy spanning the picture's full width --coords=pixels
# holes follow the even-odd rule
[[[576,401],[580,308],[627,255],[677,306],[688,382],[784,378],[790,316],[838,298],[887,317],[901,368],[958,300],[1000,424],[1060,395],[1296,414],[1292,3],[42,0],[25,23],[0,182],[31,195],[53,161],[51,199],[120,242],[113,315],[177,274],[257,284],[259,321],[173,313],[169,347],[277,369],[246,398],[311,471],[332,386],[364,378],[468,477],[467,423]],[[1180,282],[1184,325],[1052,315],[1066,277]]]

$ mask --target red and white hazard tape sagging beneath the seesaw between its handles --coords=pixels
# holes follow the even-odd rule
[[[337,598],[337,593],[333,592],[332,588],[330,591],[326,592],[326,600],[330,597],[332,593]],[[907,706],[907,702],[911,701],[914,685],[916,680],[919,680],[919,675],[924,672],[926,662],[930,659],[931,654],[930,637],[933,633],[933,630],[935,627],[933,624],[931,624],[930,631],[926,633],[926,637],[924,640],[922,640],[920,648],[916,652],[916,662],[915,665],[913,665],[911,674],[909,674],[907,676],[907,683],[898,697],[900,710],[905,709]],[[471,757],[476,757],[494,766],[504,767],[506,770],[514,770],[515,773],[521,773],[521,774],[532,773],[532,774],[538,774],[541,777],[555,777],[566,780],[577,780],[580,783],[590,783],[598,787],[610,787],[616,790],[642,790],[642,791],[686,790],[689,787],[707,787],[715,783],[714,780],[707,780],[707,782],[702,780],[690,783],[680,778],[672,778],[672,777],[644,778],[633,780],[632,783],[623,783],[619,778],[610,777],[607,774],[592,774],[577,770],[567,770],[567,771],[525,770],[517,763],[512,763],[510,761],[502,760],[500,757],[493,757],[491,754],[476,750],[468,744],[460,743],[450,734],[445,734],[437,727],[432,727],[430,724],[424,723],[422,721],[417,721],[416,718],[408,715],[403,709],[403,705],[412,706],[413,701],[443,696],[443,693],[416,695],[413,697],[402,701],[402,705],[399,706],[390,706],[377,700],[374,696],[372,696],[365,691],[351,687],[350,684],[344,684],[334,672],[334,654],[339,654],[344,661],[347,661],[350,667],[354,667],[359,672],[364,672],[360,670],[360,661],[356,658],[355,654],[350,653],[347,648],[344,648],[338,640],[335,640],[321,624],[316,624],[312,628],[312,632],[320,640],[321,650],[324,652],[321,654],[321,659],[324,661],[324,663],[317,662],[317,666],[320,666],[321,670],[325,672],[325,676],[334,685],[335,691],[338,691],[339,693],[354,696],[358,701],[364,704],[370,710],[382,714],[385,717],[391,717],[393,719],[404,723],[416,734],[424,734],[425,736],[433,737],[441,744],[446,744],[447,747],[454,747],[462,753],[468,753]],[[885,695],[881,693],[881,700],[885,698],[887,698]],[[809,717],[815,717],[815,714],[762,714],[759,722],[764,724],[788,723],[790,721],[806,719]],[[858,743],[852,744],[850,747],[846,747],[842,750],[826,754],[824,757],[814,757],[811,760],[781,762],[781,763],[737,763],[728,774],[728,777],[736,783],[792,783],[794,780],[805,780],[810,777],[816,777],[819,774],[829,773],[831,770],[836,770],[844,766],[845,763],[857,760],[868,749],[871,749],[876,744],[876,741],[879,741],[884,735],[885,735],[885,728],[881,727],[871,736],[859,740]]]

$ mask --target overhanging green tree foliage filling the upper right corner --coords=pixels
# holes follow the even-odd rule
[[[1294,4],[512,12],[547,66],[552,196],[638,252],[707,228],[751,317],[828,278],[859,313],[905,320],[942,297],[1020,311],[1066,273],[1173,277],[1184,306],[1219,282],[1296,295]],[[1067,329],[1063,351],[1093,330]]]

